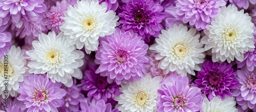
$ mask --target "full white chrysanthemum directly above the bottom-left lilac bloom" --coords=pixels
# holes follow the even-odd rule
[[[81,58],[84,54],[76,50],[62,32],[57,36],[55,32],[41,33],[38,39],[32,42],[34,50],[26,52],[31,60],[28,64],[30,73],[47,73],[54,83],[56,80],[68,87],[73,85],[72,77],[82,79],[79,67],[83,65]]]

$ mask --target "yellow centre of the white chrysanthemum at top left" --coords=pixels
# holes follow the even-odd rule
[[[96,28],[96,20],[93,17],[86,17],[82,20],[82,27],[87,32],[93,32]]]

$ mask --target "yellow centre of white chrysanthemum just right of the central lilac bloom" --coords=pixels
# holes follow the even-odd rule
[[[187,53],[188,53],[188,49],[187,49],[186,44],[184,44],[184,43],[177,43],[173,47],[172,53],[178,59],[185,57],[187,55]]]

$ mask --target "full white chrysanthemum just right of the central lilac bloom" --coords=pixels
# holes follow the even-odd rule
[[[188,28],[182,24],[173,28],[161,30],[159,38],[150,50],[157,52],[157,60],[161,60],[159,67],[169,73],[176,71],[182,76],[195,75],[200,71],[198,64],[203,63],[203,44],[199,42],[200,34],[196,34],[195,28]]]

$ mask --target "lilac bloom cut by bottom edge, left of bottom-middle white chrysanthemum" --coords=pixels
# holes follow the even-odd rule
[[[81,102],[80,103],[81,112],[92,112],[92,111],[100,111],[100,112],[118,112],[118,109],[115,108],[112,110],[111,104],[107,103],[105,104],[104,100],[96,100],[93,99],[92,102],[90,102],[90,105],[87,102]]]

